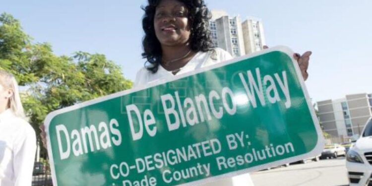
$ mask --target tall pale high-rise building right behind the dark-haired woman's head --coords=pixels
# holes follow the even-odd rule
[[[230,17],[223,10],[212,10],[209,26],[214,46],[234,57],[260,51],[265,45],[262,21],[257,18],[242,22],[239,15]]]

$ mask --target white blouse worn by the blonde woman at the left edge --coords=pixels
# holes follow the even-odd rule
[[[8,109],[0,114],[0,186],[31,186],[35,130]]]

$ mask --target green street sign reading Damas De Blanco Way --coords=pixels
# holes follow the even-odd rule
[[[292,55],[274,47],[50,113],[54,186],[196,185],[320,154]]]

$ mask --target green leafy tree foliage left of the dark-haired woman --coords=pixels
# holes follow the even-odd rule
[[[132,86],[105,55],[56,56],[50,44],[33,44],[19,21],[6,13],[0,15],[0,68],[23,86],[22,103],[38,134],[48,113]]]

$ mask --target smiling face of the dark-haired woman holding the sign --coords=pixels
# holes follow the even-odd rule
[[[190,37],[188,10],[178,0],[161,0],[155,10],[155,34],[162,46],[185,45]]]

